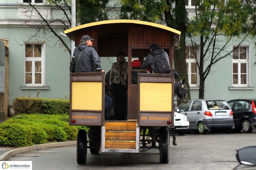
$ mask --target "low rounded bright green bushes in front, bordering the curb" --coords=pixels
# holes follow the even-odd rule
[[[24,147],[47,141],[76,140],[78,129],[69,126],[68,115],[21,114],[0,124],[0,145]]]

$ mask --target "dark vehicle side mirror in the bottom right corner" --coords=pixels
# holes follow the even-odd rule
[[[256,165],[256,146],[239,148],[236,151],[236,158],[241,164]]]

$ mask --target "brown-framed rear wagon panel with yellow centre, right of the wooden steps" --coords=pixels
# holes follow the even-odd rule
[[[139,126],[173,126],[174,74],[138,74]]]

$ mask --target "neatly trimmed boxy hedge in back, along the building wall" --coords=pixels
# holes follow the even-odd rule
[[[14,114],[69,114],[69,100],[19,97],[13,99]]]

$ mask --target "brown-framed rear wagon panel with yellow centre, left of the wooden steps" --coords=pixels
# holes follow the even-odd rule
[[[69,125],[102,126],[105,73],[70,73]]]

